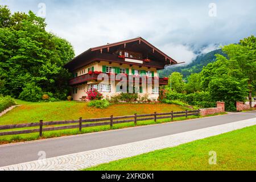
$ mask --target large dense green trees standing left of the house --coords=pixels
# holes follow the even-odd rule
[[[45,19],[31,11],[11,14],[0,6],[0,93],[28,101],[42,100],[46,92],[67,98],[70,74],[63,65],[75,54],[67,40],[45,28]]]

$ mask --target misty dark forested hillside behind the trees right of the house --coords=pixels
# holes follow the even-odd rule
[[[184,76],[184,78],[187,78],[192,73],[200,73],[203,67],[207,66],[209,63],[213,63],[214,61],[216,61],[216,54],[225,55],[225,53],[222,52],[222,49],[217,49],[212,52],[199,55],[196,57],[195,60],[192,61],[191,64],[185,66],[171,66],[167,67],[162,71],[159,71],[160,77],[168,77],[173,72],[181,73]]]

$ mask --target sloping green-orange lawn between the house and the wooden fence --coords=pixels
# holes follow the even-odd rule
[[[76,101],[32,103],[16,100],[22,105],[0,117],[0,125],[32,123],[43,121],[62,121],[86,118],[102,118],[122,115],[166,113],[183,111],[184,108],[173,104],[117,104],[108,109],[95,109],[86,103]]]

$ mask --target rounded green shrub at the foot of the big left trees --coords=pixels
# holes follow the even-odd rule
[[[35,85],[35,83],[28,83],[19,94],[19,99],[23,101],[38,102],[42,100],[42,89]]]

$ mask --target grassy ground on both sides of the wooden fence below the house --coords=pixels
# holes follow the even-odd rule
[[[60,121],[60,120],[72,120],[82,118],[102,118],[122,115],[133,115],[137,114],[152,114],[155,111],[158,113],[166,113],[170,111],[183,111],[184,107],[171,105],[171,104],[116,104],[110,106],[108,109],[95,109],[88,107],[86,103],[82,102],[42,102],[32,103],[16,100],[17,104],[22,105],[11,110],[9,113],[0,117],[0,125],[11,125],[18,123],[32,123],[39,122],[40,119],[43,121]],[[174,121],[198,118],[198,116],[190,116],[188,118],[181,117],[175,118]],[[170,119],[158,119],[156,123],[170,122]],[[154,121],[141,121],[138,122],[138,126],[142,125],[154,125]],[[48,131],[43,133],[43,138],[61,137],[67,135],[76,135],[82,133],[92,133],[97,131],[106,131],[112,129],[122,129],[125,127],[134,127],[134,123],[122,123],[114,125],[113,128],[110,126],[97,126],[87,127],[79,132],[78,129],[71,130],[58,130]],[[37,127],[36,127],[37,128]],[[32,128],[27,128],[32,129]],[[15,129],[25,130],[25,129]],[[2,130],[13,131],[13,130]],[[0,137],[0,144],[12,143],[12,142],[24,142],[28,140],[40,139],[38,133],[32,134],[21,134],[21,135],[8,135]]]

